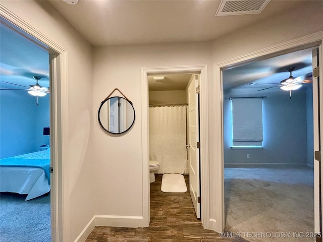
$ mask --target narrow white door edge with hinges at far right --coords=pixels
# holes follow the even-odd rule
[[[320,100],[320,88],[322,86],[319,85],[319,77],[317,77],[318,72],[318,49],[312,50],[312,66],[313,66],[313,133],[314,133],[314,231],[318,234],[315,241],[318,240],[322,236],[322,188],[321,188],[321,175],[322,175],[322,165],[321,165],[321,135],[320,128],[322,125],[320,122],[320,108],[322,106],[322,100]]]

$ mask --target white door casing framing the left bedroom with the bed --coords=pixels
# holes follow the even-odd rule
[[[68,226],[63,227],[63,213],[69,214],[68,203],[66,197],[63,196],[66,191],[63,191],[65,173],[62,170],[62,162],[65,160],[63,154],[63,144],[66,143],[67,132],[64,132],[66,125],[63,119],[67,116],[67,107],[63,105],[67,99],[66,95],[66,71],[67,71],[67,58],[66,50],[60,45],[48,39],[37,31],[31,25],[20,19],[18,16],[7,10],[6,8],[0,9],[1,21],[5,21],[15,31],[21,31],[24,36],[29,36],[34,44],[42,46],[49,53],[49,82],[50,82],[50,167],[53,173],[50,175],[50,222],[55,224],[51,226],[51,241],[68,240]],[[44,46],[47,46],[46,48]],[[3,54],[3,53],[2,53]],[[32,57],[32,56],[30,56]],[[47,62],[48,65],[48,62]],[[35,99],[34,99],[35,100]],[[35,100],[36,101],[36,100]],[[48,170],[51,172],[51,170]],[[68,223],[67,219],[65,221]]]

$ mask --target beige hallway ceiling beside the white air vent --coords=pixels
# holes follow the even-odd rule
[[[260,14],[215,16],[219,0],[49,1],[93,46],[211,41],[304,2],[273,0]]]

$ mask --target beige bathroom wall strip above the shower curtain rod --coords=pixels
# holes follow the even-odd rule
[[[185,90],[149,91],[149,104],[185,103]]]

